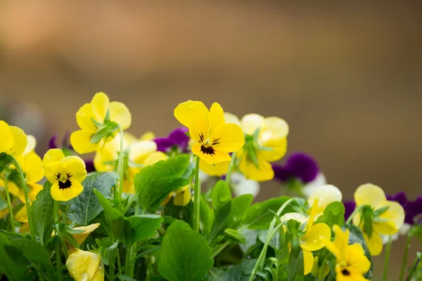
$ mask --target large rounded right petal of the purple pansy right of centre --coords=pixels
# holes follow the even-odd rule
[[[287,159],[286,167],[292,171],[293,175],[300,178],[303,183],[314,181],[319,172],[315,160],[302,152],[290,155]]]

